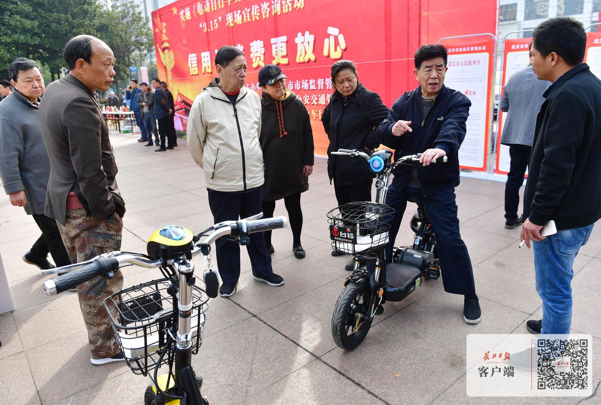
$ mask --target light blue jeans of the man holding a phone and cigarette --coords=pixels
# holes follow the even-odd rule
[[[541,333],[567,335],[572,324],[572,265],[581,246],[586,245],[593,224],[558,231],[540,242],[532,242],[536,291],[543,300]]]

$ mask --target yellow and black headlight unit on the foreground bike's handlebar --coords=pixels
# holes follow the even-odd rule
[[[148,239],[146,250],[148,256],[153,259],[161,258],[166,261],[191,252],[194,249],[192,238],[194,234],[191,230],[177,225],[167,225],[152,234]]]

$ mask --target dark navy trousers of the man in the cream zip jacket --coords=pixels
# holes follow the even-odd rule
[[[236,221],[257,215],[263,209],[263,186],[247,193],[220,193],[209,190],[209,206],[215,224],[222,221]],[[271,256],[267,252],[263,232],[249,234],[251,243],[246,245],[248,257],[251,258],[252,272],[258,277],[270,276],[273,272]],[[215,241],[217,266],[221,281],[236,284],[240,278],[240,245],[229,236],[222,236]]]

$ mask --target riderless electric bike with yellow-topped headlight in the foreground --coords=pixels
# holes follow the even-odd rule
[[[207,302],[217,296],[219,288],[211,267],[210,245],[228,234],[240,245],[248,245],[248,234],[287,226],[284,216],[260,219],[262,216],[221,222],[196,236],[186,228],[168,225],[150,237],[148,254],[115,251],[43,270],[44,275],[68,272],[44,282],[44,291],[53,295],[96,276],[112,278],[120,267],[131,264],[158,267],[163,278],[126,288],[104,300],[115,340],[133,373],[150,378],[145,405],[208,405],[201,395],[203,379],[195,373],[191,360],[202,343]],[[191,263],[199,254],[204,260],[205,288],[198,287]],[[168,373],[157,376],[165,364]]]

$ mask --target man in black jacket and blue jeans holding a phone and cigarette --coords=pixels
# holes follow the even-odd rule
[[[534,248],[543,319],[532,333],[570,332],[572,264],[601,218],[601,81],[582,63],[587,37],[581,22],[555,17],[532,31],[530,64],[553,84],[538,112],[520,239]],[[540,236],[548,221],[557,234]]]

